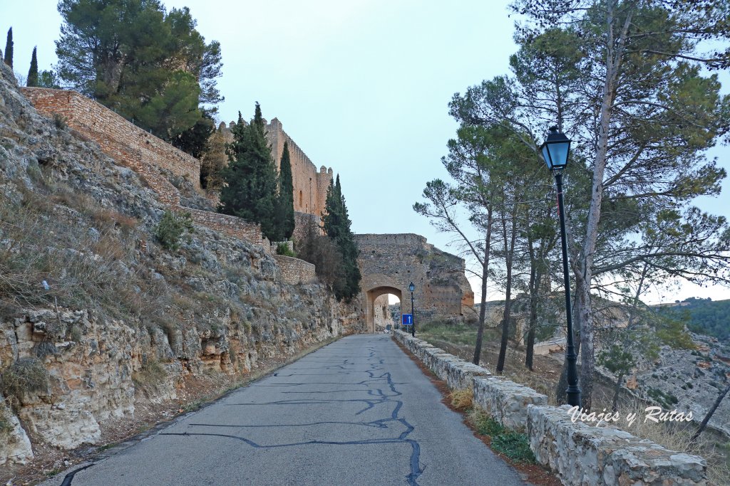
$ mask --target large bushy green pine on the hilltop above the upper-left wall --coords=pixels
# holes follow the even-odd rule
[[[187,7],[61,0],[58,11],[61,79],[156,136],[174,140],[201,120],[204,105],[222,101],[215,86],[220,44],[205,42]]]

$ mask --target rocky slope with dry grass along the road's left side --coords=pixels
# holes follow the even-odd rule
[[[195,227],[162,248],[154,193],[39,116],[0,65],[0,465],[31,442],[95,444],[191,378],[235,383],[349,329],[323,286],[284,283],[258,246]]]

